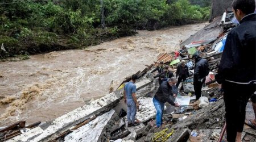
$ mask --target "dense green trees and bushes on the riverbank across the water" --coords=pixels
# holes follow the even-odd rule
[[[204,6],[204,5],[202,5]],[[86,48],[135,30],[158,30],[208,19],[210,8],[188,0],[2,0],[0,58]]]

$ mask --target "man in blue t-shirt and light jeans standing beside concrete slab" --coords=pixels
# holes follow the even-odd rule
[[[131,76],[131,80],[125,83],[125,87],[123,89],[123,98],[125,99],[125,103],[127,103],[128,127],[136,125],[135,115],[137,110],[139,110],[139,103],[136,98],[136,85],[134,84],[137,78],[138,76],[133,74],[133,76]]]

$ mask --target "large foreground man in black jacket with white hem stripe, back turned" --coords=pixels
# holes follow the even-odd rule
[[[222,84],[227,140],[241,141],[245,108],[256,82],[256,14],[254,0],[234,0],[233,12],[240,25],[226,38],[216,80]]]

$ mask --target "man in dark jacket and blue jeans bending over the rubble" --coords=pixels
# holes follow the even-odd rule
[[[177,103],[174,103],[174,101],[172,101],[170,98],[170,95],[176,97],[176,95],[172,93],[172,86],[174,86],[176,82],[177,80],[175,77],[168,78],[167,81],[164,81],[159,86],[158,90],[155,93],[153,103],[156,109],[156,127],[162,126],[164,103],[168,102],[172,106],[179,107],[179,105],[177,105]]]

